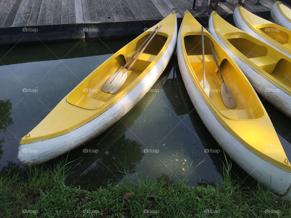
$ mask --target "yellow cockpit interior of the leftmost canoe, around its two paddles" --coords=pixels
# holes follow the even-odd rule
[[[136,81],[136,79],[146,70],[149,64],[156,60],[157,55],[164,48],[164,45],[168,39],[166,34],[159,32],[159,34],[154,36],[146,49],[132,65],[127,73],[127,78],[124,84],[115,94],[109,94],[101,91],[105,81],[114,73],[122,69],[125,63],[129,61],[131,56],[148,36],[149,34],[145,34],[140,39],[132,41],[128,44],[128,47],[120,51],[115,58],[109,58],[103,65],[95,69],[85,80],[82,81],[82,83],[80,83],[71,93],[69,93],[67,96],[67,101],[70,104],[84,109],[97,109],[104,106],[125,88],[133,84],[133,82]],[[138,54],[139,53],[137,53],[135,57],[137,57]],[[132,61],[128,63],[123,72],[127,70]],[[145,76],[145,74],[142,74],[142,76]]]

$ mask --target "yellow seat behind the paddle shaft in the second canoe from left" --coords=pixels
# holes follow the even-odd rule
[[[202,55],[188,55],[189,62],[192,69],[195,69],[196,72],[203,72]],[[217,60],[220,64],[221,61]],[[213,54],[205,55],[205,73],[216,72],[217,67],[213,57]]]

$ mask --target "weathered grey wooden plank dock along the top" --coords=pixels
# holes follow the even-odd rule
[[[219,2],[217,12],[233,13],[237,2]],[[248,0],[246,8],[268,11],[275,0],[260,0],[262,5],[256,2]],[[177,8],[177,17],[187,9],[193,15],[209,15],[213,10],[207,5],[203,11],[203,2],[198,6],[198,0],[196,10],[191,10],[192,5],[193,0],[0,0],[0,27],[148,20],[164,18],[172,8]]]

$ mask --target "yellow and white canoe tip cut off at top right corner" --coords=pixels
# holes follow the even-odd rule
[[[271,8],[271,17],[276,24],[291,30],[291,9],[281,2],[275,2]]]

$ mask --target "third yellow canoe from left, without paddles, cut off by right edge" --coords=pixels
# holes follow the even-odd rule
[[[254,89],[291,117],[291,58],[232,26],[215,12],[209,17],[209,28]]]

